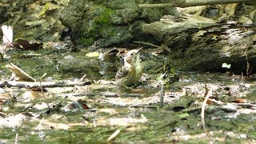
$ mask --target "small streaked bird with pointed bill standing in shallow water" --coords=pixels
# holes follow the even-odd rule
[[[115,75],[116,83],[118,86],[126,87],[133,86],[138,83],[142,77],[144,67],[139,58],[139,50],[130,50],[124,57],[124,65],[118,70]]]

